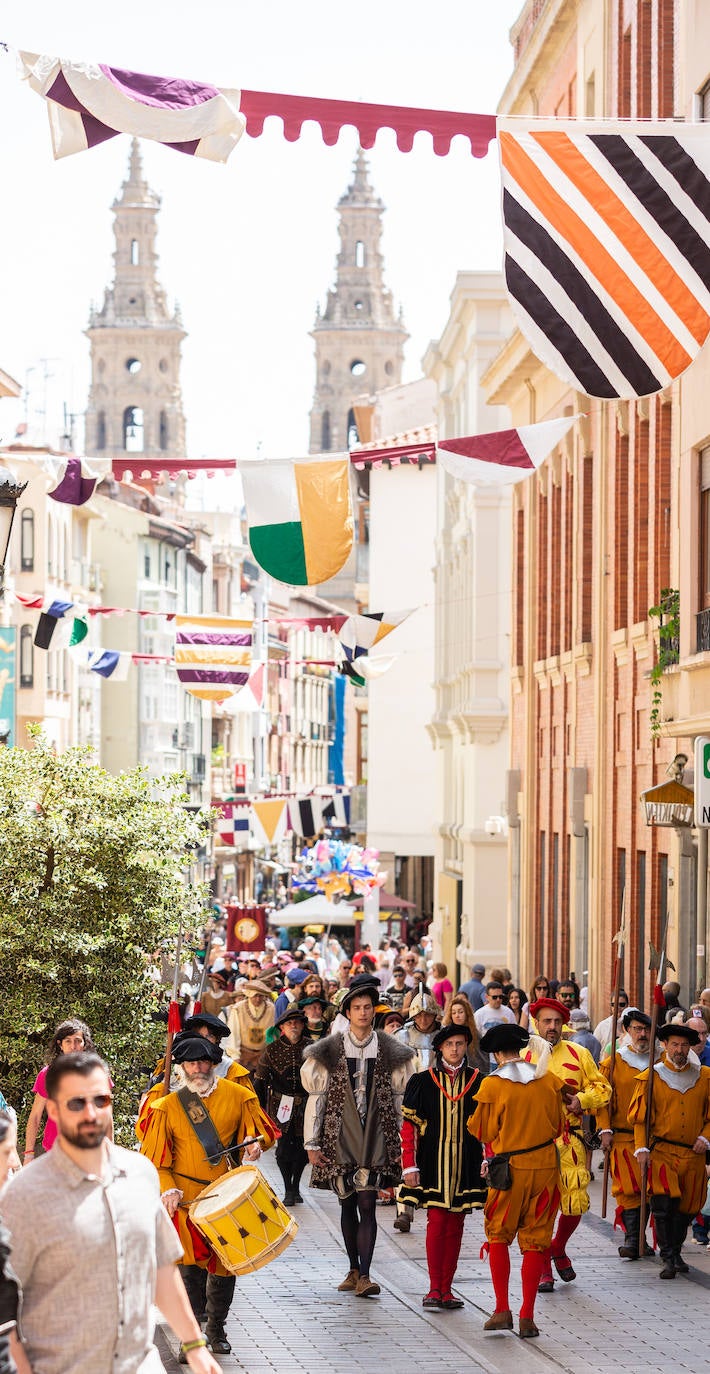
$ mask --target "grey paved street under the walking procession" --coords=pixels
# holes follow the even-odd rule
[[[273,1162],[264,1172],[273,1180]],[[308,1173],[306,1173],[308,1178]],[[423,1312],[427,1290],[424,1216],[412,1231],[393,1230],[394,1209],[380,1208],[372,1272],[382,1285],[379,1298],[357,1300],[336,1293],[347,1264],[339,1242],[339,1209],[334,1197],[304,1190],[295,1209],[301,1230],[290,1249],[271,1265],[238,1282],[228,1325],[233,1355],[222,1356],[225,1371],[325,1374],[342,1370],[374,1374],[459,1374],[474,1367],[489,1374],[527,1371],[570,1374],[666,1374],[698,1371],[706,1364],[705,1316],[710,1287],[710,1256],[688,1242],[687,1278],[658,1281],[658,1261],[637,1264],[617,1256],[618,1237],[602,1221],[600,1184],[592,1186],[592,1213],[570,1246],[577,1282],[556,1283],[541,1296],[536,1320],[541,1336],[520,1347],[512,1333],[485,1336],[493,1311],[488,1264],[479,1260],[482,1219],[466,1223],[464,1246],[455,1285],[466,1307],[460,1312]],[[612,1215],[610,1208],[610,1216]],[[512,1252],[511,1307],[519,1307],[518,1250]],[[170,1334],[169,1341],[174,1349]],[[165,1349],[165,1347],[163,1347]],[[177,1370],[166,1358],[166,1369]]]

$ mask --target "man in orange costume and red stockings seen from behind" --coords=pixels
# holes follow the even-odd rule
[[[545,1061],[536,1069],[520,1059],[520,1050],[529,1039],[529,1032],[519,1025],[497,1025],[486,1030],[481,1050],[494,1055],[496,1069],[481,1083],[475,1110],[468,1120],[470,1132],[490,1147],[493,1160],[505,1156],[509,1169],[508,1183],[499,1179],[493,1162],[489,1164],[485,1228],[496,1311],[483,1323],[483,1330],[512,1330],[509,1246],[518,1237],[523,1257],[519,1315],[523,1338],[540,1336],[534,1304],[558,1210],[555,1142],[564,1124],[559,1079],[542,1069]]]

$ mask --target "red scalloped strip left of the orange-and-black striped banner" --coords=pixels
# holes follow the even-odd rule
[[[320,125],[323,142],[328,147],[338,143],[346,125],[357,129],[360,147],[372,148],[380,129],[393,129],[400,153],[411,153],[415,135],[431,135],[434,153],[445,157],[450,142],[463,133],[475,158],[485,158],[496,137],[494,114],[463,114],[456,110],[417,110],[402,104],[365,104],[361,100],[324,100],[306,95],[276,95],[271,91],[242,91],[239,109],[244,115],[246,132],[258,139],[264,121],[277,115],[283,121],[283,136],[288,143],[301,137],[304,124],[313,120]]]

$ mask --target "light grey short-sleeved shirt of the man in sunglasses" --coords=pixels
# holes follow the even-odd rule
[[[15,1175],[1,1206],[33,1374],[162,1370],[152,1344],[155,1276],[183,1246],[152,1164],[108,1145],[98,1178],[56,1142]]]

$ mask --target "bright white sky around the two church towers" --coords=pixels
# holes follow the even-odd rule
[[[257,91],[492,113],[512,69],[508,30],[523,0],[5,0],[0,40],[32,52],[108,62]],[[113,272],[110,205],[128,165],[114,139],[54,162],[47,107],[0,52],[0,368],[27,386],[29,419],[60,433],[62,403],[87,404],[91,301]],[[411,339],[405,381],[448,316],[456,272],[500,265],[494,146],[446,158],[428,135],[397,151],[378,135],[371,177],[385,201],[386,280]],[[143,143],[162,196],[159,273],[188,338],[183,396],[191,456],[308,449],[314,365],[309,330],[331,284],[335,203],[356,150],[280,121],[244,136],[227,165]],[[47,361],[44,361],[47,360]],[[0,405],[0,441],[19,403]]]

